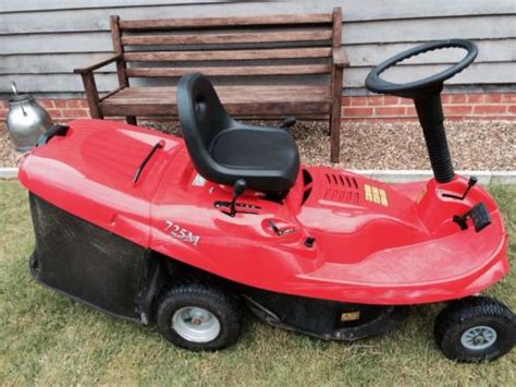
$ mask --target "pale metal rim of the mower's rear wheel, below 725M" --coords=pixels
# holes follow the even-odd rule
[[[198,306],[186,306],[175,311],[172,329],[183,339],[208,342],[220,334],[220,322],[210,311]]]

